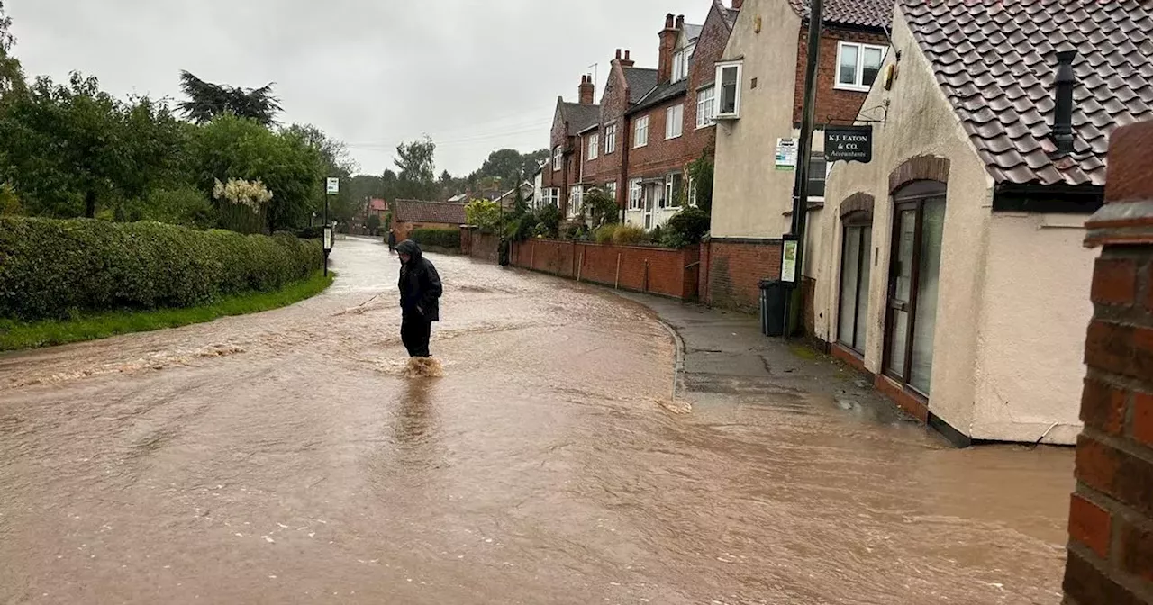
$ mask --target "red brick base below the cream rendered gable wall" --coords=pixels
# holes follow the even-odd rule
[[[781,277],[781,240],[713,239],[701,245],[706,304],[754,311],[762,279]]]

